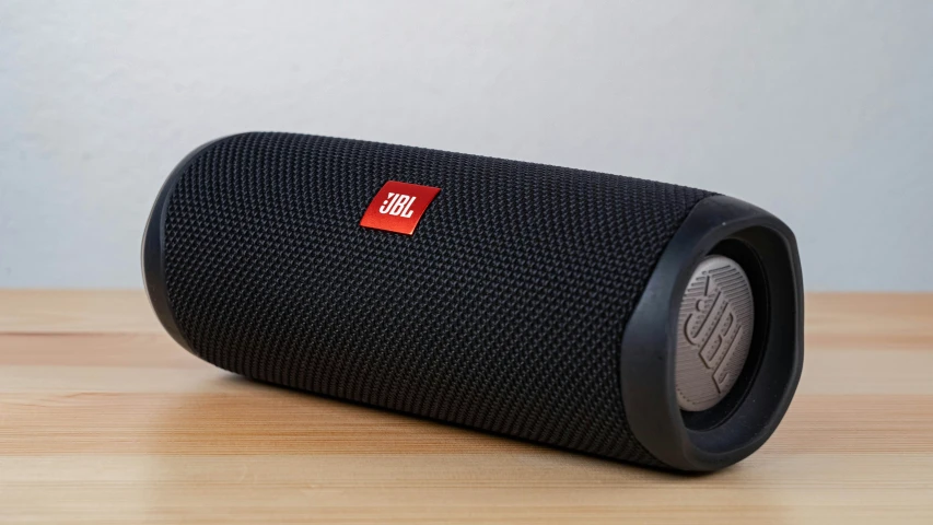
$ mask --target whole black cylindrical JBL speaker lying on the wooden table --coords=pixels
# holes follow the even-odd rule
[[[788,226],[617,175],[237,135],[168,176],[142,260],[222,369],[658,468],[751,454],[803,364]]]

